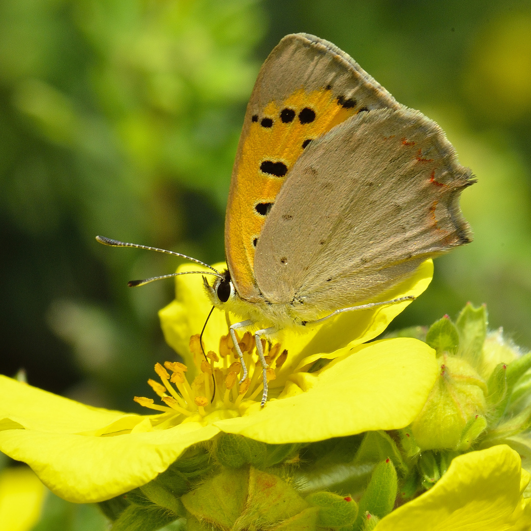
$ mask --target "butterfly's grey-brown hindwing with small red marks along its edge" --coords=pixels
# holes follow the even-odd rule
[[[470,241],[458,202],[472,182],[418,111],[349,118],[312,143],[278,194],[256,248],[259,289],[309,319],[379,299]]]

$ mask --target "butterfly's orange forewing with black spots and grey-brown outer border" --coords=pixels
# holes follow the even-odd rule
[[[288,35],[263,64],[230,183],[225,248],[240,296],[259,295],[254,256],[262,228],[295,161],[319,136],[356,114],[400,104],[330,42]]]

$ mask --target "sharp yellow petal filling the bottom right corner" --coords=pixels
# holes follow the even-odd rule
[[[418,498],[383,518],[376,531],[516,531],[531,529],[531,506],[521,493],[529,474],[505,444],[465,453]]]

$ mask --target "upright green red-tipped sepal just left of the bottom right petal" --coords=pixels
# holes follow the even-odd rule
[[[363,529],[366,513],[383,518],[395,506],[398,489],[398,478],[391,459],[386,459],[376,465],[371,481],[359,500],[359,512],[355,529]]]

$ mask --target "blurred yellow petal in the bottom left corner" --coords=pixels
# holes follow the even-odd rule
[[[28,531],[39,519],[46,489],[28,467],[6,468],[0,474],[2,531]]]

